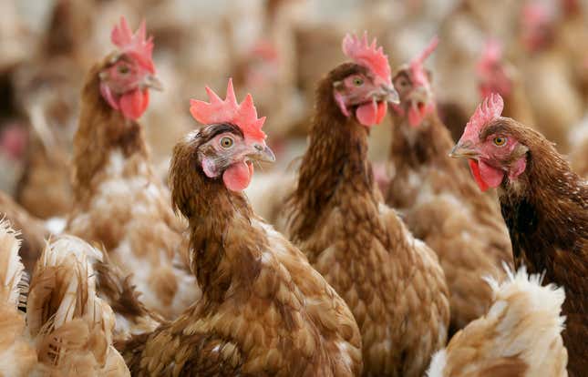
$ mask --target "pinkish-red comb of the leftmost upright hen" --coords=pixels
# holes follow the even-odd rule
[[[135,34],[130,30],[127,19],[120,17],[120,25],[115,25],[110,34],[110,40],[118,46],[123,53],[131,54],[139,64],[145,66],[151,72],[155,72],[151,54],[153,53],[153,38],[146,39],[145,21],[139,25]]]

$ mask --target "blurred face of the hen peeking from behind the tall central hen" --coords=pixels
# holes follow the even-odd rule
[[[394,87],[400,96],[400,104],[392,105],[392,109],[401,117],[408,117],[408,124],[418,127],[423,119],[435,110],[429,80],[430,73],[425,72],[425,77],[420,82],[415,80],[409,69],[401,69],[392,79]]]

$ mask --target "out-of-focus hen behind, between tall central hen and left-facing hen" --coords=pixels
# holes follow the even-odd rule
[[[435,38],[392,79],[400,104],[391,106],[386,199],[415,237],[437,253],[449,286],[451,331],[456,331],[488,310],[492,292],[481,277],[501,279],[500,265],[512,257],[498,206],[477,191],[468,168],[448,156],[453,141],[438,118],[423,66],[437,44]]]

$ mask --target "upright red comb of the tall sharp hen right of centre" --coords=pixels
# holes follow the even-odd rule
[[[376,38],[372,40],[371,45],[367,43],[367,32],[364,33],[362,39],[359,39],[358,36],[347,34],[343,38],[343,53],[358,65],[366,66],[387,83],[391,83],[392,77],[388,56],[384,54],[382,46],[377,47],[376,44]]]

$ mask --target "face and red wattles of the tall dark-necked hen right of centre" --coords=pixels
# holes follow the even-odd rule
[[[387,113],[387,102],[398,101],[395,88],[363,66],[356,66],[355,72],[336,80],[333,95],[343,115],[354,114],[366,127],[382,121]]]

